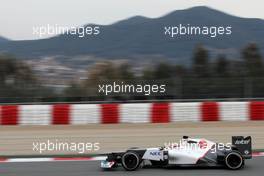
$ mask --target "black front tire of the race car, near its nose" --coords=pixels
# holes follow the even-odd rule
[[[141,163],[141,158],[135,152],[126,152],[122,156],[122,166],[127,171],[137,170]]]

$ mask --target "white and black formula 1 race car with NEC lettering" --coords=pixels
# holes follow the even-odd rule
[[[140,166],[220,166],[232,170],[244,166],[245,159],[252,158],[251,137],[233,136],[232,143],[215,143],[206,139],[192,139],[183,136],[179,143],[158,148],[131,148],[125,152],[107,154],[101,161],[105,170],[122,166],[134,171]]]

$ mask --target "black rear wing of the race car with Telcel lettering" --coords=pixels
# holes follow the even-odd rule
[[[232,145],[242,154],[245,159],[252,158],[251,136],[232,136]]]

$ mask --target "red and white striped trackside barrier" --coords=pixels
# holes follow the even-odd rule
[[[2,105],[0,125],[264,120],[264,102]]]

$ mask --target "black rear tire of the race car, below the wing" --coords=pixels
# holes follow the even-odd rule
[[[238,151],[231,151],[225,157],[225,166],[231,170],[243,168],[244,163],[244,158]]]

